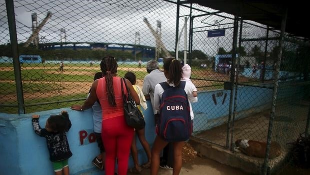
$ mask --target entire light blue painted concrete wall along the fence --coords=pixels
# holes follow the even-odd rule
[[[287,83],[287,86],[284,84]],[[285,98],[289,94],[306,92],[303,86],[296,87],[289,82],[280,82],[278,99]],[[226,94],[226,95],[225,95]],[[296,95],[295,95],[296,96]],[[299,95],[300,96],[300,95]],[[211,90],[198,93],[198,102],[192,103],[194,111],[193,130],[200,131],[223,124],[227,120],[229,109],[229,90]],[[298,97],[299,98],[299,97]],[[301,97],[300,97],[301,98]],[[213,100],[215,99],[215,100]],[[236,116],[246,117],[242,111],[251,109],[260,112],[270,108],[272,99],[271,88],[238,87]],[[145,137],[152,146],[155,138],[155,124],[150,101],[148,108],[143,111],[146,126]],[[61,110],[67,110],[72,123],[67,133],[70,149],[73,153],[69,158],[70,174],[102,174],[91,164],[91,160],[99,153],[96,142],[89,143],[88,138],[80,144],[80,131],[92,132],[91,109],[83,112],[72,111],[69,108],[38,112],[40,126],[45,125],[46,119],[51,114],[57,114]],[[31,115],[10,115],[0,113],[0,174],[53,174],[52,166],[48,160],[48,152],[44,137],[39,137],[33,131]],[[140,164],[147,161],[142,146],[138,139],[137,148]],[[129,157],[129,167],[133,166],[132,158]]]

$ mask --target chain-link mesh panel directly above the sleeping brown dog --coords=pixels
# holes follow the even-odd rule
[[[273,37],[277,37],[277,40],[272,40],[271,33],[266,27],[255,26],[250,22],[242,25],[241,47],[244,53],[239,53],[242,55],[239,65],[244,68],[239,70],[239,77],[243,79],[238,79],[237,82],[232,142],[236,139],[267,139],[277,59],[277,53],[272,53],[277,48],[279,39],[279,33],[274,33]]]

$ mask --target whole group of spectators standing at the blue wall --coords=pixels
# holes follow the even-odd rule
[[[187,104],[185,103],[185,106],[182,107],[179,104],[171,103],[171,106],[168,107],[188,110],[188,113],[185,112],[185,114],[181,111],[180,115],[187,117],[191,123],[193,112],[190,103],[197,101],[197,89],[190,80],[190,66],[182,65],[180,61],[174,58],[168,58],[163,61],[163,71],[160,71],[158,62],[150,60],[146,63],[148,74],[144,77],[142,88],[135,84],[136,77],[133,72],[127,72],[124,77],[119,77],[117,66],[114,57],[104,57],[100,63],[101,72],[94,75],[94,81],[84,103],[71,106],[72,110],[77,111],[92,108],[93,131],[100,151],[93,158],[92,163],[99,169],[104,169],[106,175],[124,175],[128,171],[128,158],[131,150],[134,167],[129,169],[130,172],[140,173],[141,168],[150,168],[150,174],[154,175],[158,173],[158,168],[161,167],[173,169],[172,174],[179,174],[182,166],[182,146],[189,137],[171,141],[156,131],[153,146],[150,148],[145,139],[144,128],[134,130],[124,120],[121,87],[127,85],[128,92],[124,88],[123,93],[125,95],[130,93],[138,109],[152,108],[153,119],[157,128],[160,127],[159,125],[163,120],[161,118],[162,113],[160,113],[163,110],[160,108],[162,106],[160,104],[164,100],[163,96],[174,93],[173,88],[178,89],[175,89],[175,92],[180,92],[182,95],[176,95],[186,99]],[[121,78],[124,78],[124,82],[121,81]],[[163,83],[173,90],[166,91]],[[146,100],[150,100],[151,106],[147,106]],[[40,128],[38,118],[38,115],[32,116],[32,125],[35,133],[47,140],[50,161],[53,164],[55,174],[69,174],[67,159],[72,153],[66,139],[66,132],[71,127],[67,112],[63,111],[57,116],[50,116],[46,121],[45,128]],[[191,134],[192,125],[180,126],[179,123],[176,125],[178,128],[189,128],[189,132],[184,130],[184,133]],[[167,130],[166,134],[172,134],[169,132],[173,131]],[[141,142],[147,156],[147,162],[142,165],[138,161],[135,135]],[[54,155],[55,152],[57,152],[57,156]]]

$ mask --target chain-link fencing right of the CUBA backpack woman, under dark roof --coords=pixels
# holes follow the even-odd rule
[[[271,141],[280,145],[281,154],[274,158],[275,150],[270,146],[265,157],[269,157],[266,166],[274,171],[277,164],[289,159],[287,143],[305,132],[309,109],[309,62],[305,58],[308,43],[285,34],[280,48],[280,31],[251,21],[236,23],[235,17],[208,9],[199,13],[192,9],[190,17],[188,50],[191,54],[202,51],[207,57],[200,60],[191,55],[193,81],[199,92],[209,92],[203,97],[212,98],[199,98],[199,107],[194,106],[196,123],[203,123],[195,125],[199,128],[194,136],[233,150],[236,139],[266,142],[273,128]],[[237,40],[233,39],[234,26],[238,32],[242,30]],[[212,31],[219,36],[212,37]],[[281,62],[276,65],[280,50]],[[276,105],[270,114],[273,96]],[[287,113],[286,117],[279,119],[283,113]],[[261,159],[258,164],[263,167],[264,163]]]

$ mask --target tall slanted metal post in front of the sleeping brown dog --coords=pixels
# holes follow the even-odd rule
[[[279,79],[280,63],[281,63],[281,56],[282,56],[282,47],[283,47],[283,41],[284,41],[286,18],[287,18],[287,8],[282,14],[281,33],[280,33],[280,40],[279,40],[280,51],[277,55],[276,68],[275,68],[275,79],[274,79],[274,86],[273,86],[273,92],[272,92],[273,94],[272,95],[272,106],[271,106],[271,113],[270,113],[269,126],[268,126],[266,153],[265,153],[264,162],[261,168],[261,174],[263,175],[267,173],[267,167],[268,167],[267,165],[268,165],[268,157],[269,157],[269,151],[270,151],[275,102],[276,102],[276,97],[277,97],[278,79]]]

